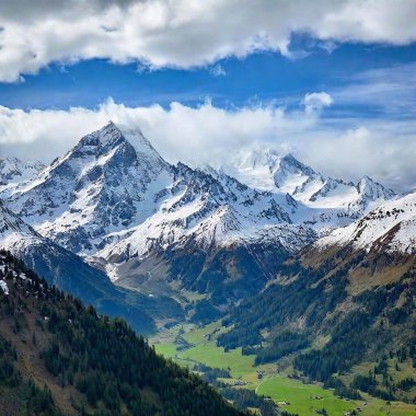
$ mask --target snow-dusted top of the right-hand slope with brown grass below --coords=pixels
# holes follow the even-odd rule
[[[351,291],[395,282],[397,276],[412,270],[415,264],[415,193],[382,204],[302,251],[302,263],[314,269],[332,267],[334,274],[353,263]]]

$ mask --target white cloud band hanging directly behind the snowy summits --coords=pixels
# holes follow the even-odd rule
[[[96,109],[0,107],[0,154],[50,162],[108,119],[140,127],[170,162],[218,165],[242,147],[261,145],[289,148],[301,161],[335,177],[357,180],[368,174],[396,190],[416,188],[413,119],[355,119],[346,127],[320,113],[274,106],[228,111],[209,101],[196,108],[172,103],[167,109],[127,107],[112,100]]]

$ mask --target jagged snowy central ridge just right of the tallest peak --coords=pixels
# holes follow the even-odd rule
[[[286,195],[277,195],[279,199],[228,175],[218,174],[216,178],[184,164],[174,172],[173,184],[162,193],[159,210],[132,229],[109,233],[96,256],[113,261],[146,256],[172,244],[185,245],[189,239],[200,247],[262,241],[273,224],[280,226],[275,234],[279,231],[280,244],[287,244],[288,250],[299,250],[315,238],[310,229],[307,232],[305,227],[290,224],[288,212],[297,207]],[[291,238],[286,238],[286,233]]]

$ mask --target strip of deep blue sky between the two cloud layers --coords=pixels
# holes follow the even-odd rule
[[[371,83],[371,71],[383,71],[385,82],[396,81],[395,71],[416,62],[416,44],[393,47],[348,43],[328,51],[311,47],[316,39],[309,36],[293,37],[291,47],[301,50],[304,57],[265,51],[195,69],[157,70],[140,69],[140,62],[115,65],[104,59],[50,63],[35,76],[25,74],[23,82],[0,83],[1,105],[24,109],[93,108],[113,97],[128,106],[158,103],[166,107],[173,101],[196,106],[209,97],[213,105],[227,108],[271,102],[291,108],[298,106],[308,92],[336,93],[350,85]],[[221,73],[216,74],[219,68]],[[391,89],[386,89],[386,101],[391,100]],[[407,109],[408,116],[414,115],[414,108]],[[345,116],[392,116],[382,102],[371,102],[370,97],[368,102],[355,102],[354,97],[344,96],[334,102],[325,116],[343,113]]]

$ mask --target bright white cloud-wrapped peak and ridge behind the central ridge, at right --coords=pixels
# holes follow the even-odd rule
[[[320,223],[324,215],[326,224],[322,227],[325,228],[328,228],[328,217],[333,222],[330,228],[344,227],[385,200],[396,198],[393,190],[368,176],[356,184],[325,177],[292,154],[270,149],[243,150],[223,170],[254,188],[290,194],[297,201],[313,208],[311,223]]]

